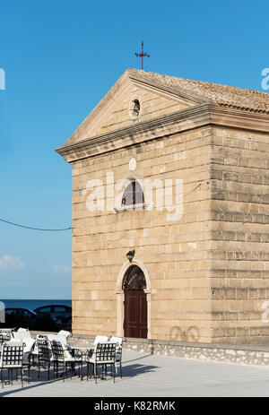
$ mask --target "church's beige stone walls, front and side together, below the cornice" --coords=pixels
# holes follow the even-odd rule
[[[117,334],[117,276],[135,249],[151,280],[152,339],[267,343],[267,141],[203,127],[75,162],[74,333]],[[115,181],[183,179],[182,219],[155,210],[89,212],[86,183],[106,182],[108,171]]]

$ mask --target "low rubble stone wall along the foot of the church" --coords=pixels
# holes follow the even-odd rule
[[[76,345],[93,345],[95,336],[74,334],[71,342]],[[169,342],[147,339],[126,339],[126,350],[141,351],[181,359],[203,359],[245,365],[269,366],[268,346],[227,345],[217,343]]]

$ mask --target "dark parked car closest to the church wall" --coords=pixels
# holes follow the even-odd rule
[[[56,323],[65,328],[65,330],[71,330],[72,325],[72,307],[62,304],[52,304],[48,306],[38,307],[35,313],[41,316],[51,316]]]

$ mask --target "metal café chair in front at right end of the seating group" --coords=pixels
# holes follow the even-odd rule
[[[115,374],[116,374],[116,367],[115,367],[115,360],[116,360],[116,349],[117,343],[98,343],[95,346],[95,350],[91,357],[87,359],[87,380],[89,376],[92,375],[95,378],[95,383],[97,383],[98,377],[98,367],[101,366],[101,377],[106,379],[107,376],[107,367],[110,366],[111,369],[111,376],[114,378],[115,383]]]

